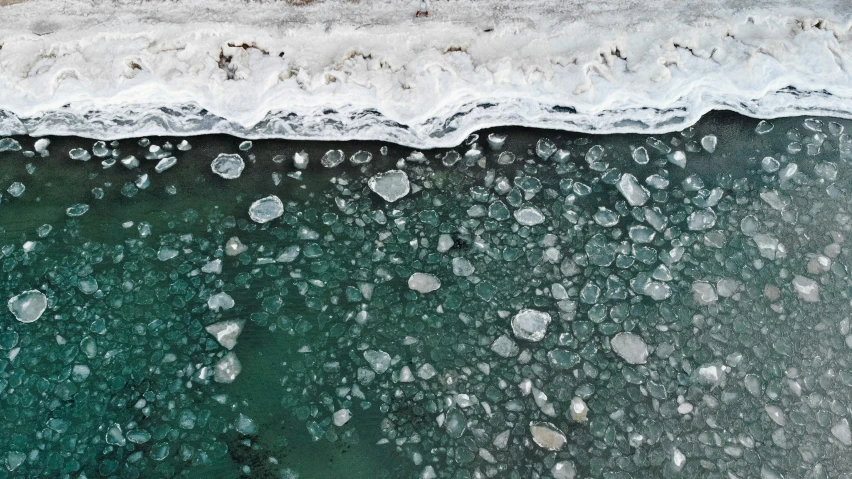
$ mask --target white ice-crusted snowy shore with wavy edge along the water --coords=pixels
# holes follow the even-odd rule
[[[0,6],[0,136],[428,148],[498,125],[671,131],[712,109],[852,117],[842,2],[433,0],[428,20],[416,5]]]

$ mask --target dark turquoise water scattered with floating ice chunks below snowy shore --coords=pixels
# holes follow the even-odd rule
[[[848,477],[849,128],[15,138],[0,297],[47,304],[4,313],[0,476]]]

